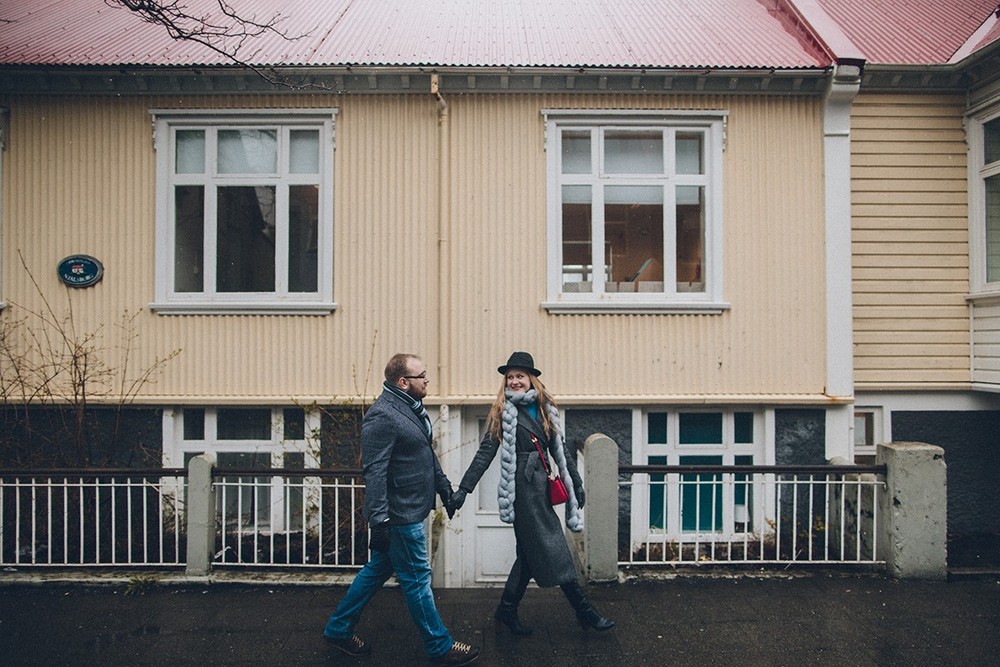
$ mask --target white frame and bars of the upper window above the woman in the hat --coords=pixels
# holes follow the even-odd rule
[[[728,114],[725,111],[648,111],[648,110],[567,110],[546,109],[545,136],[547,151],[547,300],[542,304],[550,313],[721,313],[729,308],[723,300],[723,256],[722,256],[722,171],[725,150],[725,131]],[[592,129],[655,129],[670,132],[694,131],[705,136],[705,173],[700,175],[672,174],[672,145],[665,145],[665,175],[652,177],[619,176],[603,177],[591,175],[562,174],[562,130]],[[592,142],[593,164],[600,164],[600,142]],[[562,186],[609,184],[660,183],[664,185],[664,289],[663,292],[618,293],[604,289],[605,279],[600,271],[595,272],[592,292],[563,291],[562,266]],[[702,292],[681,292],[676,289],[674,275],[676,259],[675,234],[671,223],[675,211],[670,202],[674,201],[671,186],[700,185],[705,188],[705,257],[703,275],[705,288]],[[599,189],[599,188],[597,188]],[[595,190],[596,192],[596,190]],[[602,201],[595,194],[595,203]],[[594,248],[603,247],[604,230],[603,207],[595,205],[593,210],[593,232],[591,243]],[[603,266],[601,253],[593,251]]]

